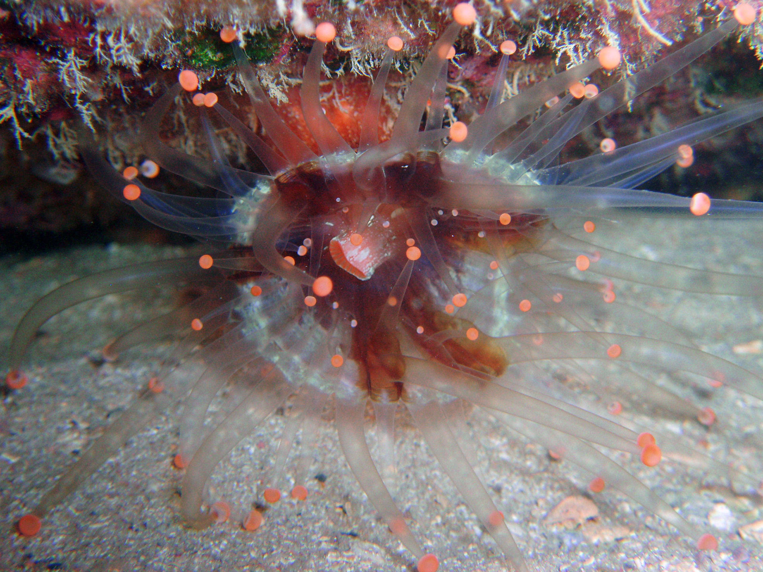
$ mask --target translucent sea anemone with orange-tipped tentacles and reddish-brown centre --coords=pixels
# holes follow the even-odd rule
[[[257,499],[278,502],[301,429],[291,496],[305,500],[315,426],[324,408],[333,406],[340,446],[369,502],[414,554],[417,570],[433,572],[438,559],[423,550],[394,500],[394,424],[404,409],[482,529],[513,569],[526,570],[465,430],[468,413],[477,407],[555,458],[578,465],[593,477],[593,493],[619,490],[697,548],[716,549],[715,536],[687,522],[633,468],[623,467],[623,453],[646,468],[667,458],[755,490],[756,477],[713,459],[691,439],[643,426],[649,417],[638,414],[715,428],[713,409],[688,399],[678,383],[687,383],[685,374],[757,399],[763,399],[763,384],[639,304],[633,284],[697,299],[755,297],[763,291],[763,278],[655,262],[607,247],[607,236],[652,218],[669,226],[681,217],[761,217],[759,204],[636,187],[676,163],[690,166],[694,145],[763,116],[763,102],[629,146],[618,148],[607,138],[601,153],[554,162],[582,130],[749,24],[748,8],[601,92],[582,82],[602,67],[617,68],[620,53],[613,47],[502,101],[515,49],[507,43],[484,114],[468,125],[456,121],[444,128],[449,52],[475,19],[470,5],[459,4],[455,21],[408,86],[391,137],[380,141],[385,82],[402,47],[400,38],[389,40],[360,121],[358,149],[346,143],[320,105],[322,58],[335,34],[324,22],[316,28],[301,85],[304,124],[320,154],[283,124],[235,32],[226,29],[222,37],[237,58],[267,140],[227,111],[217,95],[198,92],[197,76],[185,70],[146,114],[143,145],[153,163],[142,172],[150,178],[159,165],[227,198],[153,190],[134,168],[115,172],[83,131],[85,162],[111,194],[159,227],[202,239],[209,250],[201,258],[148,262],[72,281],[41,298],[21,320],[11,342],[12,388],[27,382],[21,360],[37,329],[61,310],[155,284],[191,284],[201,292],[104,349],[105,358],[115,359],[138,344],[177,339],[163,371],[21,518],[21,534],[34,535],[50,509],[178,401],[175,464],[185,471],[183,521],[204,528],[233,518],[256,529],[262,523],[258,509],[230,506],[208,488],[217,464],[276,410],[285,412],[281,442],[272,468],[259,476]],[[159,137],[163,117],[183,90],[195,93],[211,160],[182,153]],[[548,109],[518,137],[497,143],[544,105]],[[208,108],[250,146],[268,174],[230,165]],[[369,404],[378,435],[376,461],[363,428]]]

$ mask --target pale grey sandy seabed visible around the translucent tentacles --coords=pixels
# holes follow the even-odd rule
[[[656,220],[600,225],[595,239],[642,258],[763,276],[760,224],[724,222],[718,228],[707,220]],[[613,236],[615,242],[608,242]],[[57,285],[99,270],[197,252],[110,245],[0,260],[0,365],[7,362],[8,344],[24,311]],[[758,300],[694,296],[618,281],[615,288],[618,300],[638,300],[691,333],[703,349],[758,374],[763,371],[761,355],[732,352],[735,345],[763,339]],[[66,310],[41,329],[27,355],[30,383],[5,397],[0,420],[0,569],[413,570],[413,556],[378,519],[349,471],[330,413],[321,426],[310,473],[325,481],[308,480],[306,502],[286,498],[271,506],[256,532],[246,532],[234,521],[204,531],[182,525],[182,472],[171,465],[182,410],[178,405],[154,419],[53,509],[39,535],[23,538],[15,533],[18,518],[34,508],[63,468],[134,400],[170,346],[146,345],[102,365],[98,350],[116,333],[170,310],[174,301],[171,290],[108,295]],[[687,386],[699,383],[685,381]],[[637,420],[657,431],[681,432],[691,442],[707,442],[716,458],[763,474],[763,403],[726,387],[712,399],[697,397],[691,387],[685,392],[716,411],[719,423],[709,432],[696,422]],[[283,425],[283,416],[271,416],[234,449],[212,477],[215,498],[240,511],[252,506],[259,475],[272,462]],[[491,494],[531,570],[763,570],[763,546],[738,534],[739,526],[763,519],[758,497],[739,495],[723,481],[671,461],[647,469],[621,454],[617,459],[684,518],[718,536],[719,551],[700,553],[690,539],[613,490],[592,496],[600,513],[595,522],[576,529],[553,527],[544,522],[549,510],[568,496],[591,496],[586,492],[591,475],[566,461],[552,461],[545,449],[483,413],[472,414],[470,429]],[[367,430],[373,444],[372,423]],[[402,415],[397,458],[398,504],[410,515],[425,550],[437,554],[440,570],[506,570],[494,541],[481,531]],[[287,471],[293,468],[290,461]],[[288,487],[282,483],[284,490]],[[721,529],[710,525],[711,514],[726,515],[713,521]]]

